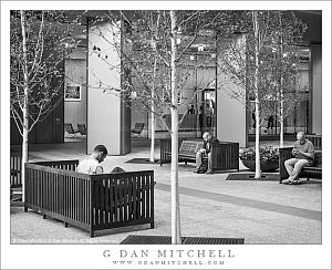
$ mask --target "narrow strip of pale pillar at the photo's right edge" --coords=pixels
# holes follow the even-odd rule
[[[322,135],[322,44],[311,44],[311,74],[312,133]]]

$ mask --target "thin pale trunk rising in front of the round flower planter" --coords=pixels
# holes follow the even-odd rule
[[[259,69],[259,29],[257,11],[252,12],[253,20],[253,33],[255,33],[255,75],[253,75],[253,87],[255,87],[255,108],[256,108],[256,139],[255,139],[255,152],[256,152],[256,169],[255,178],[260,178],[260,155],[259,155],[259,127],[260,127],[260,107],[259,107],[259,95],[258,95],[258,69]]]

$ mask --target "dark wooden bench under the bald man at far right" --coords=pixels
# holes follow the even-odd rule
[[[280,183],[288,178],[289,175],[287,173],[287,169],[284,167],[284,162],[289,158],[292,158],[292,149],[293,147],[283,147],[279,148],[279,175],[280,175]],[[307,176],[307,179],[309,180],[310,176],[313,175],[313,177],[321,177],[322,176],[322,152],[315,150],[314,152],[314,162],[312,166],[304,166],[302,168],[300,176]]]

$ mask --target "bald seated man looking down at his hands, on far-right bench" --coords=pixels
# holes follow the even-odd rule
[[[314,148],[312,143],[305,138],[303,132],[297,134],[297,142],[292,149],[294,158],[284,162],[289,178],[282,180],[282,184],[300,184],[299,175],[304,166],[312,165],[314,158]]]

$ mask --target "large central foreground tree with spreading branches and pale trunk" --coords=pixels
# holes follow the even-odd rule
[[[180,212],[178,194],[178,128],[184,116],[179,120],[178,110],[186,106],[186,102],[178,103],[178,97],[189,76],[186,52],[200,38],[199,31],[210,28],[211,19],[218,12],[208,11],[135,11],[108,12],[95,21],[106,21],[120,32],[122,39],[117,41],[112,34],[96,33],[102,37],[110,48],[115,48],[123,68],[110,61],[110,69],[123,70],[125,75],[123,90],[105,86],[110,93],[132,93],[145,110],[162,120],[172,137],[172,242],[180,243]],[[129,30],[126,30],[126,27]],[[111,38],[110,38],[111,37]],[[101,61],[107,62],[107,48],[91,44]],[[111,50],[111,49],[110,49]],[[200,65],[203,63],[199,63]],[[101,82],[102,83],[102,82]],[[207,85],[206,85],[207,86]],[[129,90],[129,91],[128,91]],[[195,96],[194,96],[195,97]],[[194,98],[193,97],[193,98]],[[172,124],[165,122],[165,111],[170,112]],[[186,114],[187,112],[185,112]],[[184,115],[185,115],[184,114]]]

